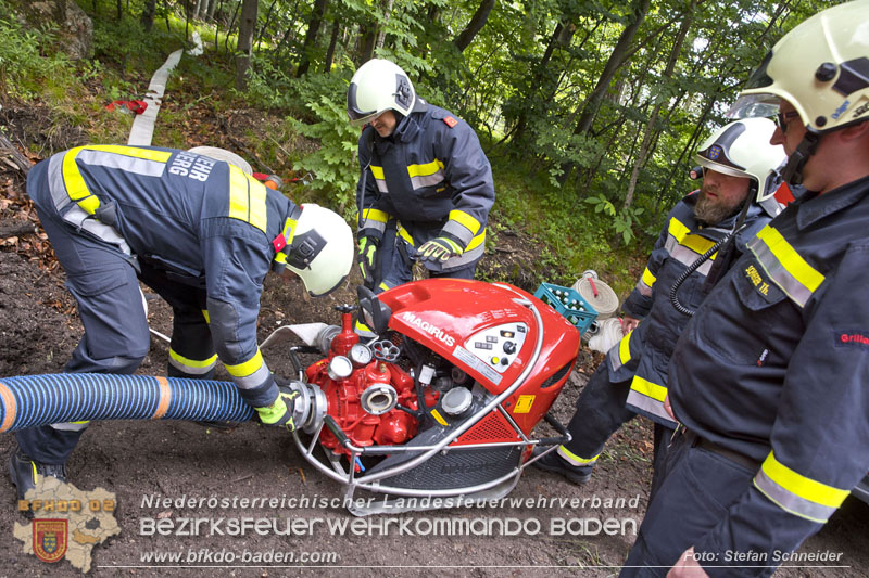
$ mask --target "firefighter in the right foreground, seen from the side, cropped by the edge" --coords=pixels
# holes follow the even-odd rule
[[[803,22],[730,111],[778,113],[771,142],[806,192],[748,243],[673,350],[669,404],[684,428],[627,561],[644,568],[625,575],[768,576],[866,475],[867,21],[860,0]]]

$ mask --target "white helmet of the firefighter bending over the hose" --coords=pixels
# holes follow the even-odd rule
[[[353,267],[353,232],[337,213],[313,203],[301,206],[287,268],[302,279],[312,297],[320,297],[343,283]]]

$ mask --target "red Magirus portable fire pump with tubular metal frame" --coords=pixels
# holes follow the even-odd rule
[[[342,327],[323,326],[291,348],[301,396],[295,444],[323,474],[347,486],[356,515],[396,510],[394,497],[489,500],[507,494],[533,446],[569,439],[547,415],[579,351],[579,331],[528,293],[502,283],[430,279],[375,296],[360,287]],[[265,344],[263,344],[265,345]],[[305,370],[298,352],[326,357]],[[532,439],[546,418],[558,437]],[[308,437],[310,436],[310,437]],[[379,500],[356,500],[365,490]]]

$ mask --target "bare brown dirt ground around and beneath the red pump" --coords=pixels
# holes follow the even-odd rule
[[[5,172],[3,172],[5,170]],[[22,179],[12,169],[0,169],[0,231],[21,228],[34,217],[22,197]],[[3,229],[3,228],[7,229]],[[513,270],[512,281],[533,291],[527,272],[534,267],[536,246],[521,232],[502,234],[501,251],[486,256],[484,271]],[[63,272],[51,258],[45,239],[15,234],[0,239],[0,377],[24,374],[58,373],[75,347],[81,327],[75,303],[63,287]],[[336,305],[353,301],[351,285],[323,298],[311,299],[297,283],[269,279],[262,297],[260,338],[287,323],[324,321],[337,323]],[[148,295],[152,329],[171,332],[168,306],[153,294]],[[152,339],[151,352],[140,373],[165,372],[167,345]],[[269,367],[278,374],[291,375],[286,347],[264,351]],[[566,423],[574,402],[600,362],[600,355],[584,351],[563,395],[553,407]],[[313,362],[315,358],[306,359]],[[226,378],[226,374],[218,374]],[[317,500],[343,496],[342,488],[311,467],[295,450],[291,438],[275,429],[253,423],[229,429],[205,428],[188,422],[103,422],[92,424],[70,463],[70,478],[79,489],[97,487],[115,492],[116,518],[122,534],[93,551],[97,576],[284,576],[313,574],[323,576],[381,577],[383,575],[427,576],[450,571],[461,576],[561,576],[583,574],[610,576],[618,571],[634,536],[632,531],[614,536],[570,536],[557,531],[558,521],[581,518],[642,519],[651,480],[651,427],[637,420],[624,427],[605,450],[591,481],[576,487],[561,477],[529,468],[511,498],[530,500],[533,505],[451,509],[402,515],[376,516],[389,534],[378,526],[366,526],[361,535],[351,529],[330,531],[329,523],[352,523],[354,518],[341,506],[317,508],[227,508],[151,505],[151,497],[168,498],[301,498]],[[0,435],[0,459],[14,447],[13,436]],[[578,498],[578,505],[553,505],[553,498]],[[607,500],[625,499],[624,508],[606,508]],[[635,502],[635,503],[634,503]],[[214,535],[207,524],[198,536],[153,536],[143,531],[149,518],[185,517],[276,517],[312,521],[320,525],[308,534],[290,536]],[[484,518],[517,519],[521,530],[515,536],[426,536],[424,519]],[[366,518],[367,519],[367,518]],[[399,523],[411,521],[407,535]],[[14,488],[0,481],[0,576],[73,576],[68,563],[49,566],[33,555],[21,553],[13,538],[15,522],[26,519],[15,510]],[[304,523],[302,523],[304,524]],[[365,523],[369,524],[368,522]],[[539,525],[539,526],[538,526]],[[576,526],[575,526],[576,527]],[[368,535],[368,529],[373,528]],[[421,531],[413,532],[413,528]],[[404,535],[402,535],[404,534]],[[827,527],[803,547],[803,551],[842,552],[840,564],[846,568],[782,568],[777,576],[861,576],[869,565],[864,544],[869,537],[869,511],[866,504],[849,499]],[[226,553],[243,552],[306,553],[310,562],[286,567],[251,567],[238,557],[227,562]],[[147,562],[150,553],[181,553],[179,562]],[[223,552],[223,562],[219,555]],[[332,554],[337,557],[329,557]],[[319,560],[317,562],[317,558]],[[190,568],[197,566],[198,568]]]

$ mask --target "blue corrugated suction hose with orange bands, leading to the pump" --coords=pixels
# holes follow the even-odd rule
[[[231,382],[101,373],[0,377],[0,432],[85,420],[252,418]]]

